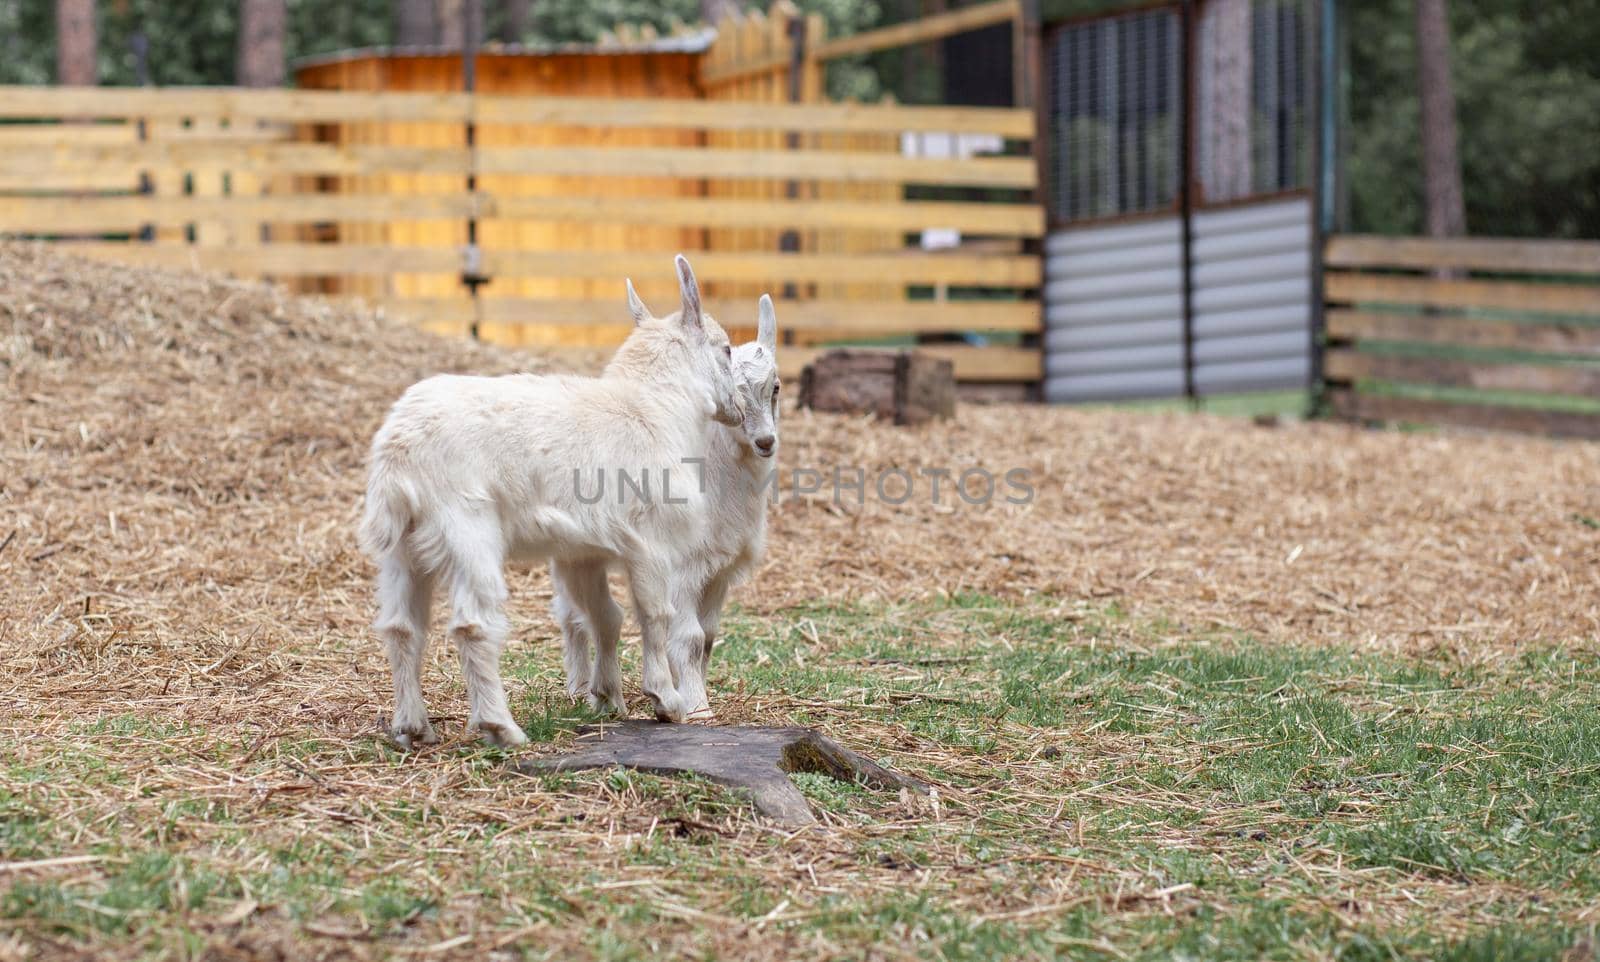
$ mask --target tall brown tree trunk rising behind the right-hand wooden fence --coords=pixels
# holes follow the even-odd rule
[[[1467,232],[1461,197],[1461,154],[1456,149],[1456,88],[1450,78],[1450,18],[1445,0],[1416,0],[1416,72],[1422,101],[1422,187],[1427,232]]]

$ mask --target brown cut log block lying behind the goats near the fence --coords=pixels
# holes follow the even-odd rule
[[[955,365],[915,351],[829,351],[800,371],[800,407],[894,424],[955,415]]]

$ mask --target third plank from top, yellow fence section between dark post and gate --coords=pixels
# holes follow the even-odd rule
[[[574,221],[685,227],[819,227],[917,232],[950,227],[963,234],[1042,237],[1045,210],[1034,203],[723,200],[714,197],[483,197],[485,222]]]

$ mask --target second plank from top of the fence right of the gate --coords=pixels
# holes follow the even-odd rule
[[[1600,285],[1328,272],[1323,279],[1323,290],[1331,303],[1368,301],[1600,315]]]

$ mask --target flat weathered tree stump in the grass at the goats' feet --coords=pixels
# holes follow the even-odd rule
[[[579,751],[557,759],[525,759],[517,770],[578,772],[619,765],[653,775],[693,772],[750,792],[755,810],[790,826],[814,824],[805,796],[789,781],[790,772],[814,772],[874,789],[928,788],[874,765],[832,738],[810,728],[749,725],[666,725],[624,720],[578,728]]]

